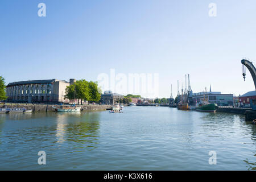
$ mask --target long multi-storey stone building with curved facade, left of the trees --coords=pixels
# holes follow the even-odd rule
[[[75,79],[69,80],[71,84]],[[11,82],[6,86],[8,102],[64,102],[69,82],[63,80],[28,80]]]

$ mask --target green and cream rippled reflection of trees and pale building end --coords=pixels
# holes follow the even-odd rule
[[[73,151],[93,150],[98,144],[100,113],[57,113],[57,143],[71,144]]]

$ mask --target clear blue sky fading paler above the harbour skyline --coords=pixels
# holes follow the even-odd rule
[[[46,17],[38,4],[46,3]],[[208,15],[216,3],[217,16]],[[100,73],[159,73],[159,97],[191,76],[193,92],[254,90],[256,1],[2,0],[0,75],[14,81],[97,80]],[[146,96],[144,96],[146,97]]]

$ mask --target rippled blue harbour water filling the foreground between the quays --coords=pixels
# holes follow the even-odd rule
[[[1,114],[0,169],[256,170],[256,125],[243,115],[169,107]]]

